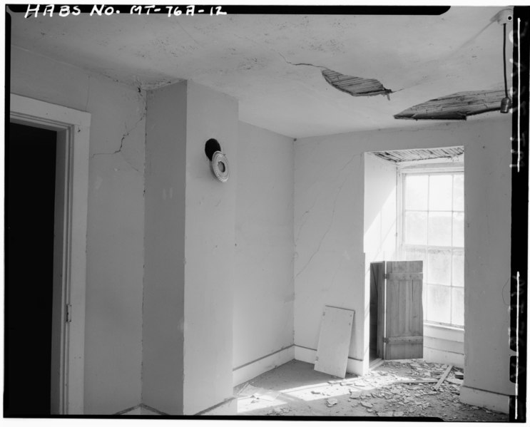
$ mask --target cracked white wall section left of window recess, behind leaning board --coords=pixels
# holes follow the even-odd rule
[[[350,357],[362,360],[362,151],[355,137],[295,142],[295,345],[317,349],[325,305],[355,310]]]

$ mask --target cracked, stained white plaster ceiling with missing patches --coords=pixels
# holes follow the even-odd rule
[[[237,98],[240,120],[293,138],[407,128],[414,120],[394,115],[411,106],[499,88],[502,28],[490,20],[501,9],[453,6],[439,16],[11,13],[11,66],[30,66],[32,52],[134,88],[193,80]],[[88,92],[88,82],[79,84]],[[371,96],[388,93],[390,100]]]

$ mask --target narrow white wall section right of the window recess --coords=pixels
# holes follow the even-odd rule
[[[502,125],[477,128],[465,144],[464,386],[513,394],[509,382],[511,115],[507,116]]]

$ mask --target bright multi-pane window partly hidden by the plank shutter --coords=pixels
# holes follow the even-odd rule
[[[464,327],[464,170],[402,177],[405,259],[424,263],[424,321]]]

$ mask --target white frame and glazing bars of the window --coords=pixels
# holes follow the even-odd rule
[[[405,257],[405,249],[408,247],[409,249],[414,249],[414,248],[417,248],[417,249],[422,249],[425,251],[425,256],[427,257],[428,256],[428,250],[429,249],[439,249],[439,250],[450,250],[451,251],[451,273],[449,274],[450,276],[450,281],[449,281],[449,285],[447,284],[444,284],[444,285],[440,285],[440,286],[444,286],[444,287],[448,287],[450,289],[450,305],[449,305],[449,309],[452,311],[452,308],[453,308],[453,296],[452,296],[452,289],[453,288],[457,288],[457,289],[464,289],[465,287],[465,282],[464,282],[464,285],[462,287],[458,287],[458,286],[454,286],[453,285],[453,277],[452,277],[452,269],[453,269],[453,254],[454,254],[454,251],[455,250],[461,250],[462,252],[464,252],[464,257],[465,257],[465,240],[464,240],[464,245],[462,247],[459,247],[459,246],[453,246],[452,244],[449,245],[449,246],[439,246],[439,245],[429,245],[428,244],[428,241],[425,245],[405,245],[405,242],[404,242],[404,232],[405,232],[405,228],[406,228],[406,225],[405,225],[405,179],[407,178],[407,175],[443,175],[443,174],[459,174],[459,173],[462,173],[464,174],[464,164],[463,163],[454,163],[454,164],[451,164],[451,165],[447,165],[447,163],[440,163],[440,164],[432,164],[432,163],[429,163],[429,164],[417,164],[417,165],[407,165],[403,168],[398,168],[397,170],[397,253],[399,254],[399,257],[401,259],[404,259]],[[453,185],[453,189],[452,189],[452,192],[454,191],[454,185]],[[465,193],[464,193],[465,194]],[[429,197],[429,189],[427,189],[427,200],[428,200],[428,197]],[[464,196],[465,197],[465,196]],[[429,206],[427,205],[427,210],[418,210],[418,212],[426,212],[427,213],[427,232],[429,230],[429,215],[428,215],[428,212],[429,212]],[[438,212],[438,211],[433,211],[433,212]],[[439,212],[442,212],[442,211],[439,211]],[[465,198],[464,198],[464,210],[460,211],[460,210],[457,210],[455,211],[454,210],[454,207],[452,206],[451,207],[451,210],[447,210],[447,211],[443,211],[443,212],[447,212],[451,215],[451,217],[454,216],[454,213],[455,212],[463,212],[464,213],[464,221],[465,221]],[[454,220],[451,221],[451,230],[453,228],[453,222]],[[451,242],[452,243],[452,242]],[[424,267],[424,272],[426,273],[425,274],[425,277],[427,277],[427,265],[425,265]],[[426,281],[424,281],[424,302],[425,302],[425,305],[427,305],[427,286],[429,286],[429,284],[427,284]],[[424,313],[427,314],[427,307],[424,307]],[[451,317],[452,317],[452,313],[451,313]],[[449,319],[451,319],[451,317]],[[452,319],[450,320],[452,321]],[[424,315],[424,324],[429,324],[429,325],[432,325],[432,326],[442,326],[442,327],[449,327],[449,328],[454,328],[454,329],[459,329],[459,330],[464,330],[464,325],[458,325],[458,324],[452,324],[452,323],[446,323],[446,322],[440,322],[440,321],[432,321],[432,320],[427,320],[427,316]]]

